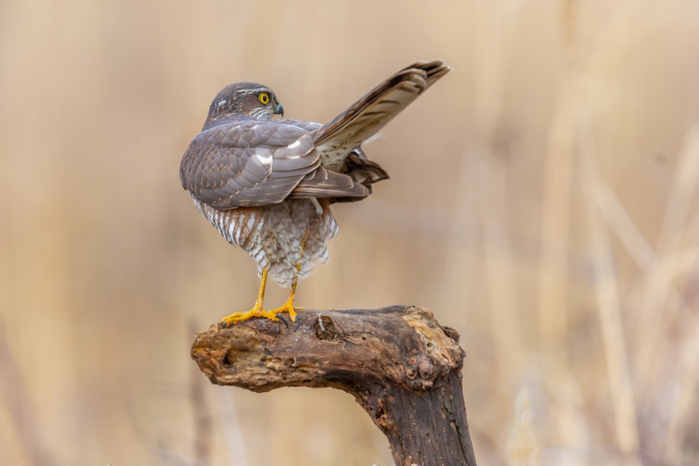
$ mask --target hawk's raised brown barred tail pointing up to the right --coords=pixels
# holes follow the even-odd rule
[[[315,132],[313,141],[325,168],[338,170],[345,157],[452,68],[444,61],[418,61],[377,85]]]

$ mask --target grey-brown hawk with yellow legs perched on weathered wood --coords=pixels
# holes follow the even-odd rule
[[[417,61],[394,73],[326,124],[284,119],[272,89],[257,82],[224,87],[180,163],[182,187],[232,245],[257,262],[257,299],[221,325],[254,317],[298,322],[296,285],[328,260],[340,231],[331,205],[361,201],[389,175],[361,145],[451,71],[442,60]],[[280,115],[280,119],[272,119]],[[264,309],[267,278],[289,289]]]

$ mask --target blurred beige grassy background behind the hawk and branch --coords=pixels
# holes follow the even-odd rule
[[[454,67],[366,146],[316,309],[430,307],[461,333],[482,465],[699,464],[699,3],[0,2],[0,463],[391,465],[352,397],[212,386],[196,330],[256,266],[180,157],[264,82],[326,122]],[[266,303],[286,291],[268,286]]]

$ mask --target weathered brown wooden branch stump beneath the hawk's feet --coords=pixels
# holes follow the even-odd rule
[[[430,310],[405,306],[306,310],[298,326],[267,319],[211,326],[192,344],[192,358],[215,384],[351,393],[387,435],[398,466],[475,466],[463,356],[456,330]]]

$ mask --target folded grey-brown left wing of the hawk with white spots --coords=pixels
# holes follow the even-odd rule
[[[314,183],[319,152],[305,129],[275,121],[241,119],[214,126],[196,136],[180,163],[182,186],[195,198],[218,209],[270,205],[289,197],[296,187]],[[352,180],[346,175],[341,175]],[[319,177],[322,179],[322,176]],[[336,184],[331,189],[330,184]],[[311,196],[358,196],[346,180],[326,180]]]

